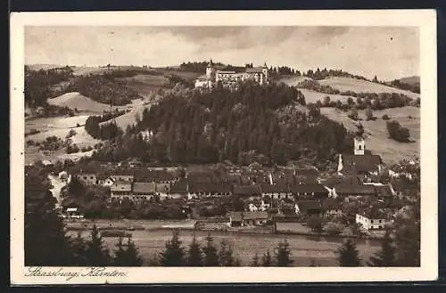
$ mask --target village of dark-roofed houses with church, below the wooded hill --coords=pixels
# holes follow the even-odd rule
[[[315,167],[257,163],[202,171],[151,168],[133,159],[90,162],[55,177],[67,186],[76,180],[105,189],[110,205],[176,202],[184,214],[180,218],[194,220],[189,228],[195,230],[380,238],[396,216],[419,202],[419,162],[385,167],[379,155],[366,151],[361,126],[353,145],[351,154],[338,155],[333,175]],[[44,165],[54,172],[54,164]],[[60,207],[68,224],[88,221],[83,209]]]

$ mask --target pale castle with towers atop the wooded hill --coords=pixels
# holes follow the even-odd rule
[[[262,67],[245,68],[244,72],[219,70],[213,64],[212,60],[208,63],[206,74],[195,79],[195,88],[213,88],[217,83],[223,86],[232,87],[238,82],[253,80],[260,85],[268,83],[268,67],[267,64]]]

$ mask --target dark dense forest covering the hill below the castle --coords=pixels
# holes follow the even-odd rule
[[[299,159],[324,162],[348,150],[350,136],[342,124],[318,109],[307,113],[302,105],[303,94],[283,84],[169,94],[94,157],[178,164],[257,161],[270,166]],[[153,131],[148,142],[138,135],[144,130]]]

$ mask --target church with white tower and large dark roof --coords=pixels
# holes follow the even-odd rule
[[[371,180],[379,175],[383,168],[383,161],[379,155],[366,151],[364,127],[359,124],[353,138],[353,153],[339,154],[337,172],[339,175],[363,175]]]

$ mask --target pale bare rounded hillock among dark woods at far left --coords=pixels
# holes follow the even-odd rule
[[[93,113],[102,113],[104,110],[110,110],[110,105],[101,102],[95,102],[86,96],[77,92],[62,94],[53,99],[48,99],[50,105],[68,107],[72,110],[87,111]]]

